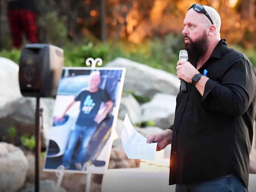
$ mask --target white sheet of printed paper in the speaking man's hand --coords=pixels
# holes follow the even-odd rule
[[[127,114],[123,123],[121,141],[127,157],[154,161],[157,143],[147,143],[147,138],[134,129]]]

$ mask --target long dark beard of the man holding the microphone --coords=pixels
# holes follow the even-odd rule
[[[188,61],[191,63],[195,68],[197,68],[198,59],[204,56],[208,50],[208,39],[206,35],[206,31],[198,37],[195,41],[192,41],[187,35],[184,38],[189,39],[189,43],[185,43],[185,47],[188,54]]]

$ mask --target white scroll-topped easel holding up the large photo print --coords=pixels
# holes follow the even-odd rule
[[[98,65],[98,66],[102,65],[102,59],[101,58],[93,59],[93,58],[89,57],[89,58],[86,59],[85,64],[87,66],[91,65],[91,69],[94,70],[96,65]],[[88,165],[88,163],[85,162],[83,164],[82,170],[85,170],[87,165]],[[57,181],[57,184],[56,184],[56,191],[59,191],[59,188],[60,188],[60,185],[61,185],[61,182],[62,182],[62,179],[63,179],[65,167],[63,165],[60,165],[60,166],[58,166],[57,170],[58,171],[55,172],[56,176],[58,177],[58,181]],[[85,189],[85,192],[90,192],[90,188],[91,188],[91,173],[88,173],[86,175],[86,189]]]

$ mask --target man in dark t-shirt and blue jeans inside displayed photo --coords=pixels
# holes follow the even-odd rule
[[[74,165],[77,170],[82,170],[82,160],[87,152],[87,146],[97,125],[106,117],[113,107],[113,102],[106,90],[99,88],[101,81],[100,72],[93,71],[89,77],[89,87],[78,92],[74,100],[67,106],[63,114],[55,118],[61,121],[67,111],[74,103],[80,101],[80,113],[74,128],[70,131],[69,142],[62,158],[62,165],[65,169],[70,168],[72,156],[79,138],[82,136],[78,151],[76,151]],[[104,102],[106,108],[102,113],[98,113],[101,103]]]

